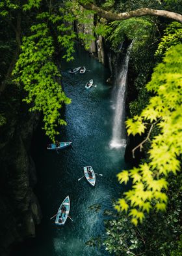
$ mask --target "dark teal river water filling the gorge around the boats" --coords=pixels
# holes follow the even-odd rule
[[[85,74],[69,74],[70,67],[85,65]],[[106,251],[85,246],[92,236],[104,234],[103,211],[112,208],[112,199],[120,197],[122,190],[116,174],[123,168],[124,148],[111,150],[113,109],[112,88],[106,83],[109,70],[82,49],[75,54],[73,64],[62,64],[62,80],[66,95],[72,104],[66,106],[66,127],[61,127],[62,141],[72,141],[73,146],[57,152],[45,149],[47,138],[41,133],[36,137],[40,147],[34,151],[38,172],[36,185],[42,208],[43,220],[37,236],[13,255],[26,256],[89,256],[107,255]],[[93,79],[96,88],[85,89]],[[37,145],[37,144],[36,144]],[[92,165],[96,176],[96,187],[91,187],[83,176],[83,167]],[[62,200],[69,195],[71,200],[70,219],[64,227],[54,225],[49,218],[57,213]],[[89,209],[100,204],[101,210]]]

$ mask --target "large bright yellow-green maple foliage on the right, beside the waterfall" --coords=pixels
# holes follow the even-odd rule
[[[168,189],[166,178],[170,173],[177,174],[180,170],[182,150],[182,44],[173,46],[166,52],[162,63],[155,67],[148,91],[153,91],[148,106],[140,116],[127,120],[129,134],[141,135],[146,130],[146,123],[157,121],[160,134],[151,141],[149,162],[138,168],[125,170],[118,174],[120,183],[133,179],[132,189],[125,192],[125,202],[119,200],[117,210],[123,209],[123,203],[128,204],[129,216],[137,225],[142,222],[145,212],[155,207],[157,211],[166,210],[165,191]]]

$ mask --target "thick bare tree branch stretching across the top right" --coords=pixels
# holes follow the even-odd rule
[[[182,23],[182,15],[178,14],[176,12],[170,12],[168,10],[155,10],[151,8],[140,8],[137,10],[131,10],[129,12],[121,12],[121,13],[114,13],[114,12],[108,12],[107,10],[103,10],[100,7],[97,7],[96,5],[93,5],[92,3],[82,3],[82,1],[79,1],[80,5],[82,5],[84,8],[88,10],[94,10],[98,16],[106,18],[108,20],[127,20],[129,18],[133,17],[140,17],[140,16],[162,16],[164,18],[170,18],[172,20],[175,20],[177,22]]]

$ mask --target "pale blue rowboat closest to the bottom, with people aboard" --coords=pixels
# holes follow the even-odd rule
[[[62,206],[65,207],[65,211],[62,210]],[[55,224],[57,225],[64,225],[64,223],[66,222],[66,219],[68,217],[68,214],[70,212],[70,197],[69,195],[66,197],[66,199],[64,199],[64,201],[62,202],[62,204],[60,204],[59,210],[57,212],[57,217],[55,220]]]

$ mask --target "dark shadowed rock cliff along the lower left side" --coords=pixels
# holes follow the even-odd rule
[[[0,136],[0,255],[8,255],[12,244],[34,237],[35,225],[41,219],[32,190],[36,170],[30,152],[39,116],[12,102],[6,107],[6,116]]]

